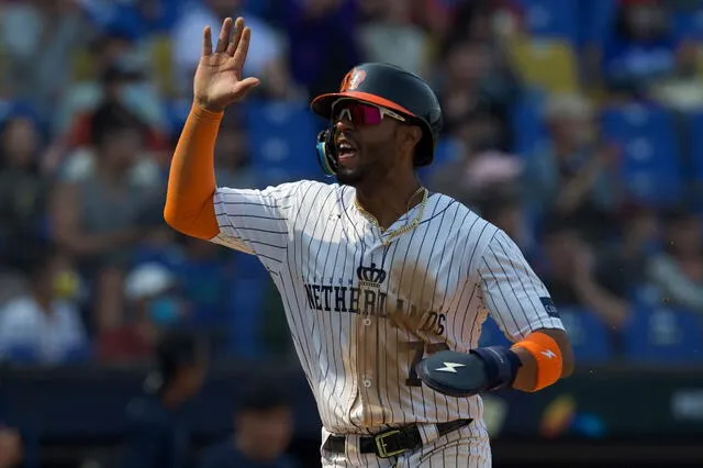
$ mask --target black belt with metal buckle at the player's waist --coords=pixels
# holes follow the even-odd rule
[[[468,426],[473,420],[456,420],[448,423],[437,423],[439,437],[447,435],[460,427]],[[323,448],[335,454],[344,454],[346,450],[346,437],[331,435]],[[362,454],[376,454],[381,458],[393,457],[405,450],[412,450],[422,445],[422,435],[416,425],[392,428],[380,434],[361,436],[359,450]]]

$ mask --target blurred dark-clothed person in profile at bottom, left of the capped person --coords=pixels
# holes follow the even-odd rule
[[[203,385],[207,346],[193,335],[169,333],[156,348],[145,394],[127,406],[129,433],[120,468],[189,468],[194,464],[183,409]]]

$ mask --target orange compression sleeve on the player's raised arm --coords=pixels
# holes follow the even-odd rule
[[[164,219],[177,231],[210,239],[220,233],[212,197],[214,148],[222,112],[190,110],[171,160]]]

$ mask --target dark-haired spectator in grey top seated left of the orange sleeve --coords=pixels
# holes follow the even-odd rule
[[[102,332],[121,323],[124,269],[135,244],[163,226],[163,194],[160,187],[130,177],[144,148],[144,126],[127,110],[105,104],[96,112],[91,132],[94,171],[57,186],[52,221],[57,243],[77,258],[90,282],[90,325]]]

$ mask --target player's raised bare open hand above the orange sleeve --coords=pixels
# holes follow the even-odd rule
[[[234,32],[233,32],[234,30]],[[202,34],[202,55],[193,80],[196,103],[209,111],[220,112],[227,105],[243,100],[259,85],[254,77],[243,78],[242,69],[249,49],[252,31],[244,19],[222,23],[217,45],[212,51],[212,33],[207,26]]]

